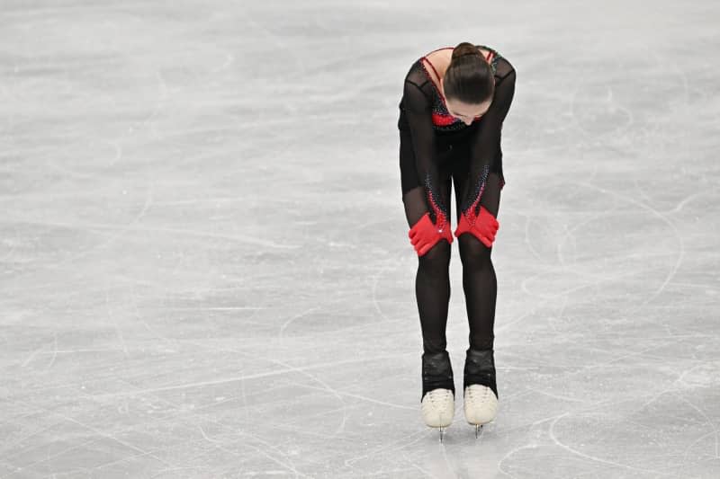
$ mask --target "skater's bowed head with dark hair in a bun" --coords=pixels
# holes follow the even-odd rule
[[[464,41],[453,49],[453,57],[440,80],[451,115],[471,124],[488,111],[495,93],[490,64],[472,43]]]

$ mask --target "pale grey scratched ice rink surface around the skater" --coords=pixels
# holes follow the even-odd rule
[[[0,478],[720,477],[718,22],[3,0]],[[500,412],[475,439],[460,395],[440,444],[397,116],[412,62],[465,40],[518,72]]]

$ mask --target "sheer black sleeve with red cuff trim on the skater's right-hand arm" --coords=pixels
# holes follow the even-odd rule
[[[509,67],[509,71],[495,84],[491,107],[483,115],[471,139],[469,182],[466,191],[462,192],[461,202],[461,210],[466,217],[477,216],[488,174],[491,173],[493,163],[501,160],[500,131],[515,96],[515,76],[515,69]]]

